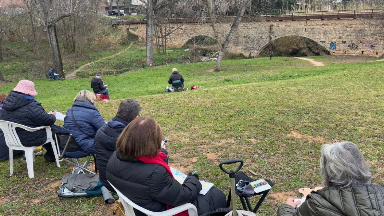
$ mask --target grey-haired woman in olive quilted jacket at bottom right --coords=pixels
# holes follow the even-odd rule
[[[278,216],[384,215],[384,185],[372,184],[370,165],[358,146],[340,142],[321,147],[320,171],[324,188],[300,201],[290,198]]]

